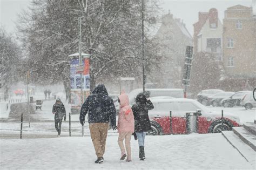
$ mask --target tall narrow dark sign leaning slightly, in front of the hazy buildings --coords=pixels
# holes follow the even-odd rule
[[[192,59],[193,59],[193,46],[187,46],[185,64],[183,68],[183,80],[182,80],[182,85],[185,85],[185,86],[190,85],[190,71],[191,71]]]

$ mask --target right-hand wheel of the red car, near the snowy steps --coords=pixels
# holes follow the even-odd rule
[[[209,130],[208,133],[220,133],[222,131],[231,131],[232,130],[232,123],[230,121],[224,119],[223,121],[221,119],[214,121]]]

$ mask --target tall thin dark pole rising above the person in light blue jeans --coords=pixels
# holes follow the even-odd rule
[[[143,92],[145,91],[146,76],[144,63],[144,0],[142,0],[142,74],[143,74]]]

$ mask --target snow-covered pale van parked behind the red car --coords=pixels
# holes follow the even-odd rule
[[[128,96],[130,105],[135,103],[135,98],[139,93],[142,93],[143,89],[134,89],[132,90]],[[183,89],[145,89],[144,94],[147,98],[157,97],[157,96],[169,96],[173,98],[184,98]]]

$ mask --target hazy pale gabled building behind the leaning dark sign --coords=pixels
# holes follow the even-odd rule
[[[156,87],[181,87],[186,46],[192,45],[192,36],[181,19],[170,13],[163,15],[153,39],[159,46],[160,68],[151,73],[151,82]]]

